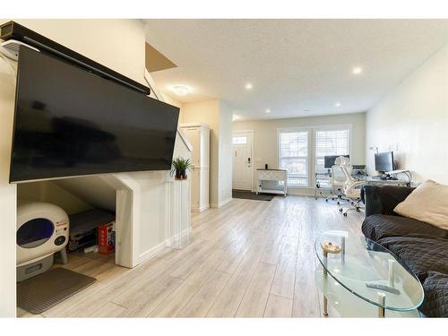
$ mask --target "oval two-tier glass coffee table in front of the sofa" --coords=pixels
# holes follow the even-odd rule
[[[323,293],[323,314],[330,304],[341,316],[418,317],[423,288],[391,251],[345,231],[324,232],[314,250],[320,262],[314,280]]]

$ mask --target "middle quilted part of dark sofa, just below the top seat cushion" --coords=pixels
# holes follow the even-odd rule
[[[448,239],[429,237],[386,237],[378,243],[408,265],[420,282],[424,282],[429,271],[448,274]]]

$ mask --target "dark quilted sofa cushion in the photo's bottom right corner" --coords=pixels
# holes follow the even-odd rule
[[[423,289],[425,300],[420,311],[426,316],[448,317],[448,274],[429,271]]]

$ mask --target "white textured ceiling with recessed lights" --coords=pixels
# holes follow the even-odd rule
[[[144,22],[147,41],[178,66],[152,73],[159,90],[224,99],[242,119],[366,111],[448,42],[448,20]],[[177,84],[192,92],[176,96]]]

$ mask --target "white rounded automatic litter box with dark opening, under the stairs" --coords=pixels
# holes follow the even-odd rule
[[[53,265],[56,252],[67,262],[69,220],[60,207],[47,202],[19,202],[17,207],[17,281]]]

